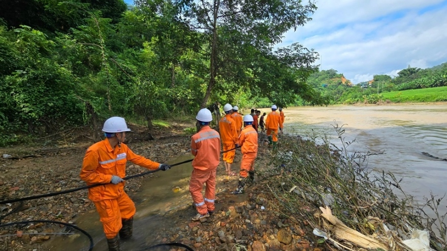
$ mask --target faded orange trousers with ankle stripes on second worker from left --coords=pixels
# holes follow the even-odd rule
[[[194,168],[189,180],[189,192],[200,214],[214,211],[214,196],[216,190],[216,170],[202,171]],[[202,196],[203,184],[206,184],[205,199]]]

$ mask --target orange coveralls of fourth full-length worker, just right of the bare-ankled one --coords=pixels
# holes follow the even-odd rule
[[[242,152],[240,176],[246,178],[248,171],[254,171],[254,159],[258,155],[258,132],[250,125],[246,126],[239,136]]]

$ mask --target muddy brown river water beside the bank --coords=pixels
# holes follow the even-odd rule
[[[447,192],[447,104],[292,107],[285,109],[284,132],[304,137],[328,135],[339,143],[332,125],[343,125],[348,150],[385,154],[370,156],[368,166],[403,177],[407,194],[417,202]],[[447,197],[447,196],[446,196]],[[441,202],[445,212],[447,198]]]

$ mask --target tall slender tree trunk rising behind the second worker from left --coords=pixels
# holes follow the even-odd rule
[[[205,97],[203,98],[201,108],[206,107],[209,97],[211,96],[211,91],[216,83],[216,73],[217,73],[217,13],[219,10],[220,0],[214,0],[213,7],[213,39],[211,41],[211,57],[210,57],[210,80],[208,82],[208,87],[206,88]]]

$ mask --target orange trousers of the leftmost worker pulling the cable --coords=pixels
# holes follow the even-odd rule
[[[131,219],[135,214],[135,204],[124,192],[116,199],[93,201],[93,203],[100,214],[107,239],[118,234],[122,227],[122,219]]]

